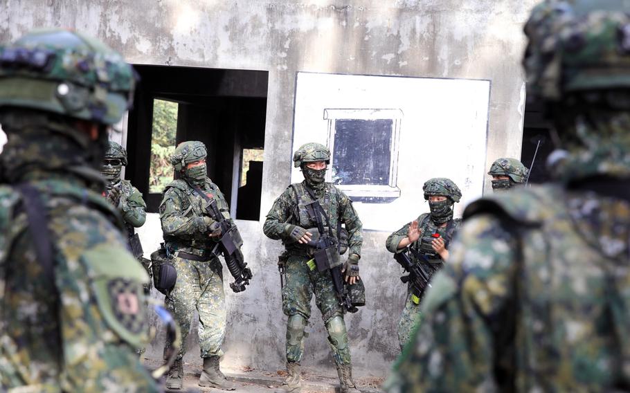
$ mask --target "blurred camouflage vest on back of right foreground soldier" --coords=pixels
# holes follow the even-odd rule
[[[501,320],[501,333],[512,332],[511,340],[496,354],[497,365],[512,367],[503,374],[516,390],[630,387],[624,232],[630,227],[630,203],[623,206],[620,200],[547,185],[494,194],[466,208],[465,219],[479,214],[501,219],[519,245],[514,281],[506,283],[508,293],[515,292],[506,311],[510,318]]]

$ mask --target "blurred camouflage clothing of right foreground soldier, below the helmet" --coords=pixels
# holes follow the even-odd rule
[[[549,185],[465,217],[386,391],[627,390],[630,203]]]

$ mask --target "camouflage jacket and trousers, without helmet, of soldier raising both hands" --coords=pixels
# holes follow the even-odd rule
[[[436,226],[435,223],[433,223],[433,221],[429,219],[429,213],[420,214],[420,216],[417,218],[417,221],[418,228],[422,231],[422,234],[420,235],[420,239],[414,241],[410,245],[410,247],[417,250],[418,253],[425,255],[429,263],[417,259],[417,257],[415,257],[415,255],[413,254],[409,255],[411,257],[411,262],[413,262],[414,264],[422,264],[424,271],[427,273],[427,275],[429,275],[429,279],[431,279],[431,277],[433,277],[433,275],[437,271],[439,271],[442,266],[444,266],[444,261],[442,261],[442,258],[440,257],[440,255],[438,255],[438,253],[433,252],[425,254],[425,250],[421,248],[422,239],[432,239],[432,237],[430,236],[431,234],[439,233],[443,239],[447,240],[447,249],[449,249],[449,243],[453,236],[456,234],[458,228],[460,227],[462,220],[453,219],[449,233],[447,233],[447,228],[449,224],[447,223],[447,226],[444,228],[438,228],[438,226]],[[407,223],[405,226],[393,232],[387,237],[385,246],[390,253],[400,253],[402,250],[404,250],[399,250],[398,244],[400,243],[400,241],[402,241],[402,239],[405,239],[407,237],[409,226],[411,226],[411,223]],[[408,284],[405,305],[400,315],[400,320],[398,322],[398,342],[401,348],[404,347],[404,345],[409,341],[414,327],[417,325],[417,322],[419,322],[422,318],[422,313],[420,313],[420,304],[416,304],[415,302],[413,302],[413,300],[411,299],[411,295],[411,285]],[[424,291],[422,291],[419,296],[420,300],[422,300],[423,297]]]

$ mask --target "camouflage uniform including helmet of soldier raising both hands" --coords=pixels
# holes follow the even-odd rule
[[[452,203],[460,200],[461,192],[457,185],[450,179],[430,179],[424,183],[424,190],[427,189],[427,185],[430,186],[434,183],[439,187],[439,189],[425,192],[424,199],[428,199],[429,195],[444,195],[444,197],[451,199],[451,205]],[[444,185],[447,186],[447,188],[444,188]],[[455,232],[458,230],[461,221],[461,219],[452,218],[452,210],[451,218],[448,221],[445,221],[446,226],[442,226],[444,223],[435,223],[435,221],[431,219],[431,213],[420,214],[420,217],[417,218],[418,229],[421,231],[422,235],[420,235],[420,239],[414,241],[409,247],[413,248],[418,254],[423,255],[424,258],[426,258],[426,261],[418,259],[415,254],[412,253],[411,262],[414,264],[422,264],[422,267],[429,276],[429,279],[431,279],[433,273],[437,272],[440,268],[442,268],[442,266],[444,266],[442,257],[440,257],[440,255],[431,247],[431,241],[435,239],[433,234],[438,233],[440,237],[444,239],[448,248],[449,243],[451,242],[451,239],[453,239]],[[407,237],[409,226],[411,226],[411,223],[407,223],[405,226],[389,235],[385,246],[390,253],[402,253],[406,250],[406,248],[398,249],[398,244],[400,244],[402,239]],[[420,322],[420,301],[424,297],[425,289],[426,287],[422,289],[422,294],[416,297],[413,293],[411,293],[411,284],[408,284],[405,306],[398,322],[398,342],[401,348],[409,341],[411,331],[413,331],[415,325]]]

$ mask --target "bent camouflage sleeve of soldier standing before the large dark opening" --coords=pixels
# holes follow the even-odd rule
[[[204,217],[183,211],[181,195],[177,188],[168,188],[160,203],[160,221],[164,235],[190,237],[197,232],[206,232]]]

